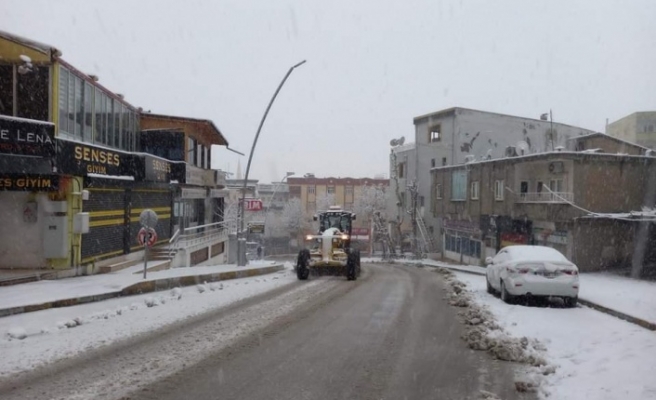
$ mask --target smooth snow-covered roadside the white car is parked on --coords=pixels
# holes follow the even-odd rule
[[[508,305],[486,292],[485,277],[455,272],[473,299],[510,335],[538,339],[556,372],[545,377],[543,398],[656,399],[656,334],[587,307]]]

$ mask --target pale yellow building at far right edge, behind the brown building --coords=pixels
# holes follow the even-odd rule
[[[618,139],[656,149],[656,111],[627,115],[608,124],[606,133]]]

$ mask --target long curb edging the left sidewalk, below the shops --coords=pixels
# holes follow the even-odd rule
[[[114,292],[89,295],[89,296],[81,296],[81,297],[73,297],[70,299],[62,299],[62,300],[50,301],[50,302],[39,303],[39,304],[30,304],[26,306],[17,306],[17,307],[0,309],[0,318],[8,317],[10,315],[47,310],[50,308],[70,307],[70,306],[77,306],[80,304],[94,303],[97,301],[103,301],[116,297],[125,297],[125,296],[133,296],[133,295],[149,293],[149,292],[157,292],[161,290],[173,289],[175,287],[191,286],[201,282],[225,281],[230,279],[249,278],[258,275],[272,274],[274,272],[282,271],[284,268],[285,267],[283,264],[276,264],[270,267],[216,272],[212,274],[203,274],[203,275],[179,276],[174,278],[162,278],[162,279],[155,279],[145,282],[137,282],[135,284],[132,284],[130,286],[127,286],[121,290],[117,290]]]

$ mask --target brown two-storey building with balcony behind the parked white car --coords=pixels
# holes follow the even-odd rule
[[[643,155],[617,154],[616,140],[601,139],[585,140],[610,153],[556,151],[433,168],[431,213],[441,221],[444,256],[482,265],[504,246],[540,244],[584,271],[630,265],[637,220],[612,215],[654,206],[656,158],[630,144],[627,152]],[[656,249],[648,247],[654,262]]]

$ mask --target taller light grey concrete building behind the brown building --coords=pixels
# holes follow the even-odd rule
[[[405,204],[410,205],[411,200],[407,188],[416,181],[419,217],[427,231],[434,233],[442,223],[439,216],[428,211],[432,206],[431,168],[552,151],[566,147],[572,137],[595,133],[557,122],[461,107],[416,117],[414,126],[414,144],[392,150],[392,154],[396,154],[396,163],[404,165],[391,166],[391,169],[400,172],[402,168],[407,176],[400,178],[398,188],[399,192],[405,193]],[[390,189],[392,193],[397,192],[394,180]],[[395,210],[388,211],[398,214]],[[434,250],[441,251],[439,241],[435,244],[437,248]]]

